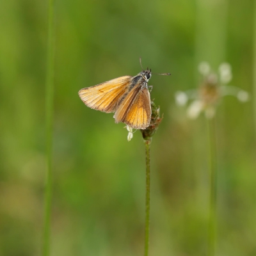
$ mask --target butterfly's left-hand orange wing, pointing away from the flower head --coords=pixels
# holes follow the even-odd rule
[[[84,104],[102,112],[115,112],[129,90],[132,76],[122,76],[110,81],[81,89],[78,94]]]

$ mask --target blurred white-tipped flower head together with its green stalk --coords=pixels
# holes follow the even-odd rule
[[[250,99],[248,92],[236,86],[227,85],[232,80],[232,68],[228,63],[221,63],[218,74],[212,72],[207,62],[200,63],[198,70],[202,74],[203,81],[197,90],[175,93],[175,100],[178,105],[184,106],[188,100],[192,100],[187,109],[188,117],[197,118],[200,113],[205,113],[208,126],[209,140],[209,229],[207,237],[208,256],[215,255],[216,247],[216,225],[217,225],[217,150],[215,113],[221,102],[221,98],[227,95],[237,97],[240,102],[247,102]]]

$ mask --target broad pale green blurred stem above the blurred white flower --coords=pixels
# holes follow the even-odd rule
[[[221,61],[225,61],[227,12],[227,0],[196,0],[196,77],[198,77],[198,64],[201,61],[208,61],[213,69],[216,69]],[[218,13],[218,19],[216,19],[216,13]]]

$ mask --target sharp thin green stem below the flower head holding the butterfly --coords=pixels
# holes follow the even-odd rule
[[[146,216],[145,216],[145,252],[148,256],[149,214],[150,214],[150,140],[145,140],[146,149]]]

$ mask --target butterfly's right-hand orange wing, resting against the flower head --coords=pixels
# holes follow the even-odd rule
[[[114,115],[115,122],[122,122],[134,129],[146,129],[150,124],[150,93],[141,85],[134,86]]]

